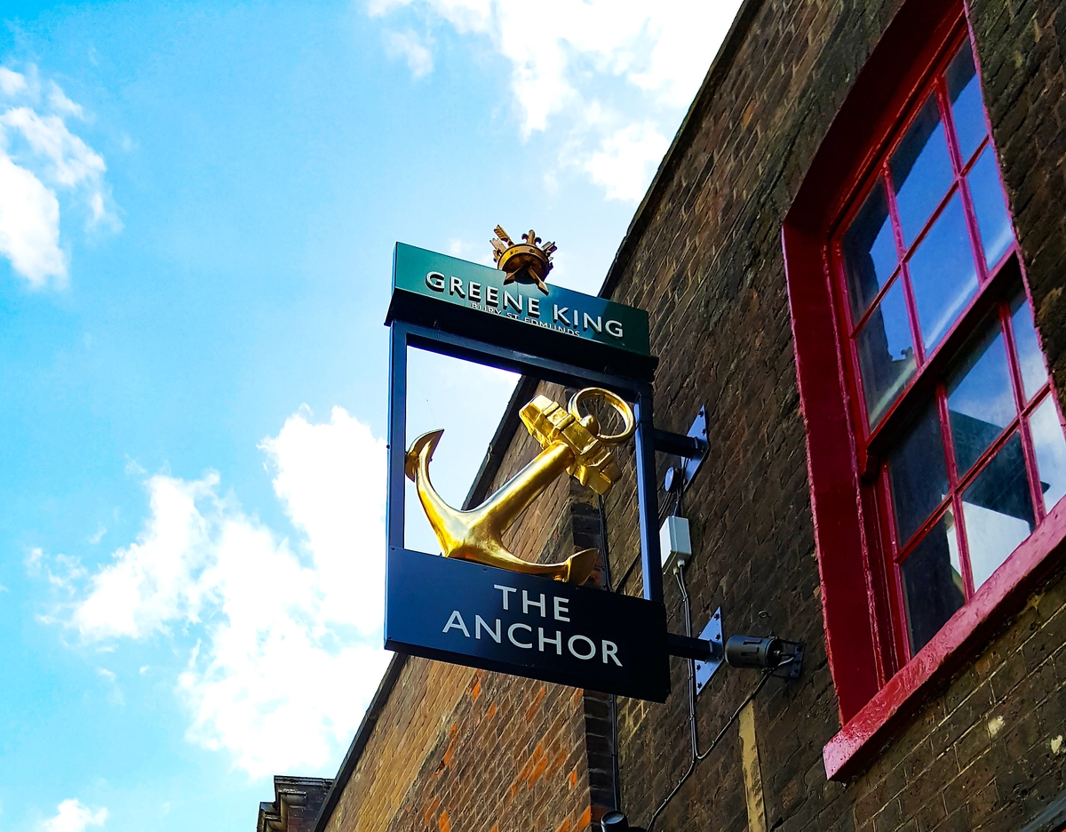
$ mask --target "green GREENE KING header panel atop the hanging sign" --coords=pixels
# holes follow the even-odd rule
[[[547,285],[504,284],[480,263],[397,243],[386,323],[406,320],[596,369],[649,377],[648,315]]]

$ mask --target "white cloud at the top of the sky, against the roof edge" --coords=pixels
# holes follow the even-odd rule
[[[535,7],[524,0],[371,0],[368,13],[408,7],[426,26],[442,21],[487,44],[511,65],[522,134],[559,123],[561,166],[584,171],[616,198],[639,199],[666,148],[649,137],[674,133],[739,6],[740,0],[543,0]],[[581,150],[603,144],[595,154]],[[633,145],[629,164],[610,163],[623,144]]]

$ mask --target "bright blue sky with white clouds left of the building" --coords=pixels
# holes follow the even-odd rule
[[[392,245],[533,226],[595,292],[737,2],[649,5],[4,5],[0,831],[251,830],[335,773]],[[456,503],[513,384],[413,361]]]

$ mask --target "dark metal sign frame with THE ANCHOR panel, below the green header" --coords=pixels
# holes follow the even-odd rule
[[[529,337],[530,327],[522,323],[512,327],[513,337],[502,338],[501,332],[495,331],[492,337],[486,330],[486,340],[482,340],[461,334],[470,331],[469,321],[443,305],[434,321],[436,325],[426,322],[424,314],[408,314],[394,297],[387,321],[390,340],[386,647],[548,682],[665,701],[669,694],[668,655],[698,657],[701,647],[694,639],[666,633],[655,454],[659,451],[698,457],[706,450],[706,442],[655,428],[650,379],[656,359],[645,354],[634,361],[621,351],[613,351],[619,353],[614,355],[612,351],[604,352],[601,345],[592,345],[599,350],[596,352],[567,335],[559,335],[560,343],[552,342],[553,349],[539,349],[543,345]],[[505,346],[508,341],[528,346],[530,352]],[[567,349],[561,348],[563,341]],[[446,561],[405,548],[407,353],[411,347],[565,387],[604,387],[632,404],[636,422],[643,601],[480,564]],[[572,354],[581,363],[560,361],[561,354]],[[631,370],[631,374],[618,372],[619,367]],[[514,618],[519,599],[523,605],[522,619]],[[510,609],[508,601],[513,602]],[[556,604],[561,606],[552,606]],[[459,609],[464,605],[465,610]],[[604,629],[604,620],[613,627],[610,631]],[[619,634],[619,638],[615,640],[612,634]],[[624,666],[625,670],[619,670]]]

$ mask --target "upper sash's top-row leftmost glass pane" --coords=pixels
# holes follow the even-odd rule
[[[881,179],[844,235],[844,266],[853,320],[858,320],[895,271],[895,241]]]

